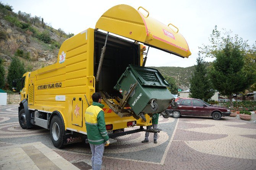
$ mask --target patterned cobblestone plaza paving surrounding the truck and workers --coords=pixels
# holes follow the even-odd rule
[[[17,151],[22,149],[23,154],[31,159],[30,146],[26,147],[31,144],[27,143],[41,142],[51,153],[63,157],[79,169],[91,169],[89,145],[75,143],[57,149],[52,145],[49,130],[21,129],[17,110],[17,105],[0,106],[0,146],[17,148],[17,144],[24,144],[18,146]],[[252,121],[243,121],[239,116],[225,117],[219,121],[195,117],[164,119],[160,116],[159,128],[163,131],[159,133],[157,144],[153,143],[152,134],[149,136],[149,143],[141,143],[144,132],[115,138],[118,142],[105,148],[102,169],[256,169],[256,124]],[[39,152],[42,151],[36,147],[38,144],[32,145]],[[0,152],[11,153],[6,149]],[[42,154],[47,157],[45,153],[41,152]],[[31,160],[34,164],[30,163],[37,166],[38,162]],[[49,161],[53,162],[51,159]],[[2,165],[2,159],[0,164]],[[52,165],[62,169],[54,162]]]

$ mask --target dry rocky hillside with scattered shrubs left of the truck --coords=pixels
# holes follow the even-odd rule
[[[6,75],[12,57],[22,60],[28,71],[55,63],[60,45],[70,36],[41,17],[14,13],[0,2],[0,58]]]

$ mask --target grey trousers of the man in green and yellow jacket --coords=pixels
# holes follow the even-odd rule
[[[100,145],[90,144],[92,151],[92,170],[101,170],[104,145],[105,143],[102,143]]]

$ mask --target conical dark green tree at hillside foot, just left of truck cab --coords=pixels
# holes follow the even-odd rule
[[[7,75],[7,83],[9,84],[9,88],[12,89],[13,80],[17,79],[17,89],[19,90],[21,87],[21,81],[19,81],[23,74],[26,72],[24,68],[24,63],[21,62],[18,57],[13,57],[11,64],[8,68]]]

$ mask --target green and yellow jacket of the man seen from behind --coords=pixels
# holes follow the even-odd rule
[[[89,143],[94,145],[100,145],[109,140],[109,135],[107,135],[104,111],[102,108],[104,105],[93,102],[89,106],[84,115],[87,138]]]

